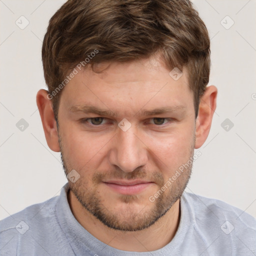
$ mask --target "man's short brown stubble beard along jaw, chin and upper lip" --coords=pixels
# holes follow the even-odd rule
[[[65,174],[73,169],[69,168],[68,160],[64,156],[63,147],[61,139],[59,136],[59,146],[61,153],[62,166]],[[193,146],[190,152],[190,158],[193,155]],[[149,209],[144,209],[148,201],[143,205],[141,204],[141,209],[134,212],[132,207],[133,202],[137,199],[136,195],[120,195],[121,202],[127,205],[127,210],[125,211],[125,218],[119,212],[114,212],[112,209],[107,208],[104,205],[104,198],[97,192],[96,187],[90,189],[87,186],[87,180],[84,176],[80,174],[80,178],[77,179],[75,183],[68,180],[68,188],[75,195],[77,200],[83,206],[83,208],[90,214],[94,215],[98,220],[100,220],[104,225],[115,230],[122,231],[138,231],[145,229],[152,224],[154,224],[160,217],[162,217],[171,208],[171,206],[181,197],[191,175],[192,163],[190,166],[181,173],[181,175],[175,180],[171,186],[164,192],[160,193],[154,202],[150,202],[151,207]],[[116,173],[116,172],[115,172]],[[120,173],[120,172],[118,172]],[[118,176],[117,176],[118,175]],[[104,173],[94,173],[92,180],[100,180],[104,176]],[[111,175],[113,177],[114,175]],[[131,173],[124,173],[122,175],[115,174],[119,178],[141,178],[148,177],[143,169],[134,170]],[[159,172],[154,172],[151,174],[152,181],[157,180],[159,189],[166,183],[163,180],[163,176]],[[159,190],[158,190],[159,191]],[[156,191],[155,191],[156,192]],[[148,199],[149,200],[149,199]],[[149,204],[149,205],[150,205]]]

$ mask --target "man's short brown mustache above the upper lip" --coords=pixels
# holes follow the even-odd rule
[[[92,182],[94,184],[100,183],[102,180],[111,180],[111,179],[144,179],[154,182],[156,184],[164,184],[164,177],[159,171],[147,171],[145,169],[135,169],[131,172],[124,172],[122,170],[115,171],[102,171],[95,172],[92,175]]]

